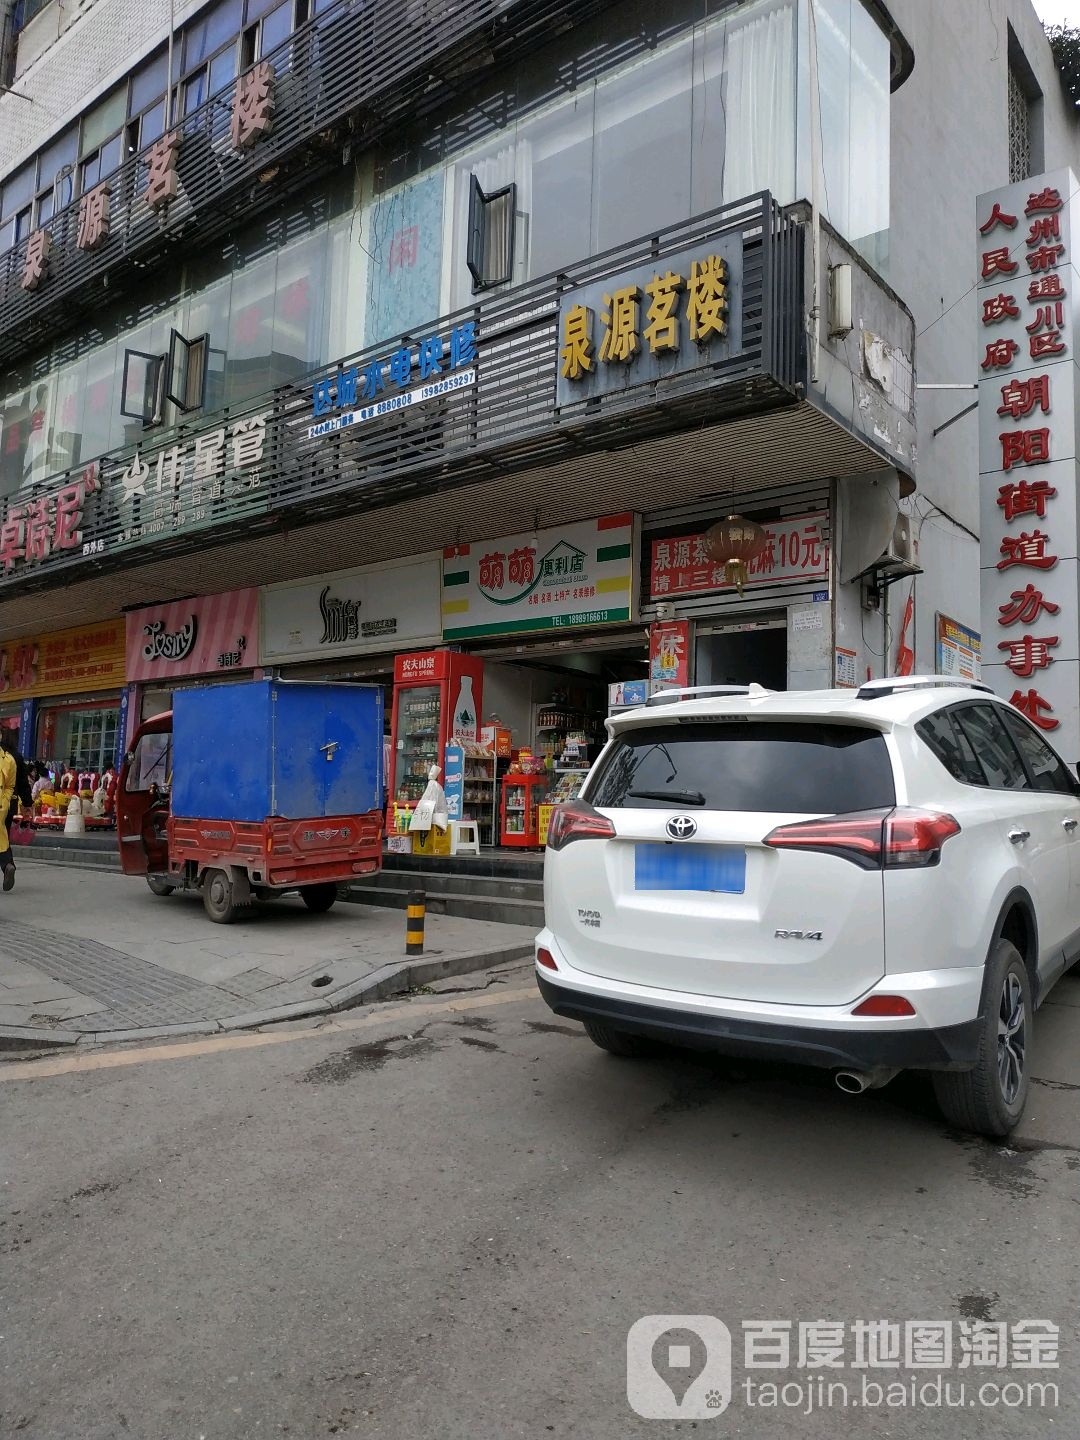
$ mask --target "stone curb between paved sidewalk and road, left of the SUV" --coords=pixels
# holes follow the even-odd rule
[[[26,1050],[66,1048],[71,1045],[115,1045],[132,1044],[141,1040],[170,1040],[177,1035],[220,1035],[236,1030],[259,1030],[262,1025],[276,1025],[288,1020],[304,1020],[307,1015],[330,1015],[357,1005],[373,1005],[377,1001],[393,999],[432,981],[444,981],[454,975],[472,975],[508,960],[531,958],[533,943],[520,942],[498,950],[469,950],[465,955],[419,958],[416,960],[392,960],[359,981],[343,985],[333,995],[292,1001],[289,1005],[271,1005],[266,1009],[249,1009],[242,1015],[228,1015],[223,1020],[196,1020],[181,1025],[150,1025],[144,1030],[95,1030],[85,1034],[73,1030],[33,1030],[27,1025],[0,1025],[0,1063],[4,1058],[22,1056]]]

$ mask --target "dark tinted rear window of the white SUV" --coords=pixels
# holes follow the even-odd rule
[[[716,720],[625,730],[585,798],[599,809],[704,805],[841,815],[894,805],[896,788],[884,737],[876,730]]]

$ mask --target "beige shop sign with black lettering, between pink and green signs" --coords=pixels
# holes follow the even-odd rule
[[[439,562],[336,570],[262,592],[262,661],[438,645]]]

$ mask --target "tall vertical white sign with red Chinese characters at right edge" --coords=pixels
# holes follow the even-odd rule
[[[982,678],[1080,759],[1071,170],[976,202]]]

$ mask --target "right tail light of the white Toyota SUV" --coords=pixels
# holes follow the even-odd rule
[[[952,815],[935,811],[852,811],[780,825],[765,837],[765,844],[837,855],[863,870],[910,870],[936,865],[945,841],[959,832]]]

